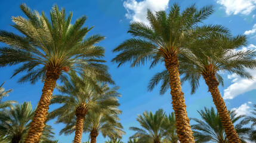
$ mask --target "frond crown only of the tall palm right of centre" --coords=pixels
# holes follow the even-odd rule
[[[223,26],[204,25],[199,26],[214,12],[213,6],[208,5],[198,10],[193,4],[180,12],[180,6],[172,5],[169,14],[158,11],[153,14],[147,11],[147,20],[150,26],[141,22],[132,22],[128,33],[133,38],[121,43],[113,52],[121,52],[112,61],[119,66],[131,62],[131,67],[140,66],[147,61],[152,61],[151,67],[161,63],[162,58],[186,55],[187,43],[207,33],[227,33]]]

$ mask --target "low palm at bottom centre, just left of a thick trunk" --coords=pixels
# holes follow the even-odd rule
[[[138,142],[153,142],[160,143],[161,140],[167,135],[166,130],[163,128],[166,126],[166,119],[164,110],[159,109],[153,114],[151,111],[144,111],[143,116],[138,115],[137,121],[141,129],[137,127],[130,127],[130,130],[136,133],[130,138],[138,138]]]

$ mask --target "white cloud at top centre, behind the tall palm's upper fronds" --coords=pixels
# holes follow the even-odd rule
[[[147,20],[147,9],[151,11],[161,11],[168,8],[169,0],[144,0],[137,2],[135,0],[127,0],[124,7],[127,10],[125,16],[131,21],[140,21],[149,24]]]

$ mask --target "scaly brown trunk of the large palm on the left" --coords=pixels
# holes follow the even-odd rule
[[[50,105],[51,95],[55,88],[56,80],[61,74],[61,68],[48,67],[46,72],[46,79],[42,95],[36,108],[35,115],[32,119],[29,133],[24,143],[38,143],[44,130],[44,122],[47,119],[48,109]]]

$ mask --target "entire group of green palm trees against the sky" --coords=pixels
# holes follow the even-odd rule
[[[121,142],[119,138],[125,133],[118,118],[122,113],[118,109],[121,95],[118,86],[109,86],[115,82],[104,64],[104,48],[95,45],[104,36],[87,36],[93,28],[83,27],[87,17],[84,15],[71,24],[72,13],[67,15],[65,9],[59,10],[57,5],[53,6],[50,19],[44,12],[32,11],[25,4],[20,8],[27,18],[13,17],[13,27],[22,35],[0,30],[0,42],[6,45],[0,48],[0,67],[18,64],[13,76],[26,73],[18,82],[33,84],[40,79],[44,87],[35,110],[29,102],[13,106],[14,101],[5,101],[1,105],[1,129],[10,130],[14,124],[20,126],[19,133],[11,133],[11,138],[7,137],[9,131],[2,131],[2,138],[11,142],[42,142],[48,139],[44,138],[45,130],[51,130],[46,122],[56,119],[56,123],[66,125],[60,133],[75,132],[73,142],[80,143],[82,133],[86,132],[90,133],[91,142],[96,142],[99,133],[108,136],[109,142]],[[112,61],[118,66],[131,63],[134,67],[151,62],[152,68],[164,63],[166,70],[150,80],[149,91],[161,81],[160,94],[171,89],[174,113],[167,116],[158,110],[155,114],[146,111],[138,116],[138,122],[146,130],[132,127],[136,133],[129,142],[216,141],[209,137],[212,133],[199,132],[215,127],[206,126],[208,113],[218,128],[223,128],[220,131],[225,136],[220,137],[223,141],[243,142],[239,130],[246,131],[242,124],[249,120],[255,125],[255,118],[234,126],[237,117],[227,110],[218,85],[223,85],[220,72],[225,71],[252,79],[246,70],[255,69],[256,51],[239,49],[247,43],[245,35],[233,36],[226,27],[203,24],[203,20],[214,13],[212,5],[198,9],[194,4],[181,11],[180,6],[174,4],[170,9],[168,14],[148,10],[150,25],[132,22],[128,30],[132,38],[113,49],[118,55]],[[201,77],[208,85],[217,113],[205,109],[200,112],[203,121],[195,119],[198,125],[190,126],[181,84],[189,81],[194,94]],[[56,85],[57,80],[60,85]],[[55,88],[60,95],[53,95]],[[50,104],[61,106],[48,113]],[[22,122],[20,117],[24,119]],[[195,129],[194,135],[192,129]],[[50,136],[51,131],[47,133]],[[220,133],[217,136],[221,136]]]

